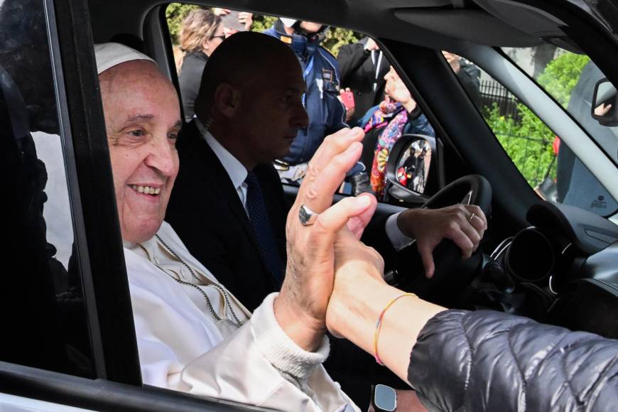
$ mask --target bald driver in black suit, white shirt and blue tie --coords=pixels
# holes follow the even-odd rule
[[[166,221],[249,310],[278,291],[294,259],[286,253],[291,205],[272,162],[286,155],[308,123],[305,84],[297,72],[296,55],[276,38],[247,32],[225,40],[205,67],[196,118],[178,142],[182,167]],[[415,238],[430,275],[432,250],[443,237],[470,256],[483,228],[479,207],[456,205],[376,217],[364,238],[391,262]],[[392,375],[374,374],[372,359],[354,349],[336,342],[327,370],[339,373],[337,381],[358,404],[367,403],[369,382],[403,385]],[[351,359],[356,352],[358,359]]]

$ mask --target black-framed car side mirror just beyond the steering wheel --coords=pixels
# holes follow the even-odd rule
[[[389,195],[404,202],[424,202],[424,193],[435,193],[439,180],[436,140],[421,134],[404,134],[391,148],[386,163]]]

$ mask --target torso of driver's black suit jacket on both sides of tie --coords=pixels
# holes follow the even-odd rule
[[[254,310],[268,293],[278,290],[278,285],[262,258],[232,180],[194,122],[183,129],[178,154],[180,172],[166,221],[191,254],[246,308]],[[271,165],[257,166],[254,173],[264,193],[276,244],[285,259],[289,206],[278,174]]]

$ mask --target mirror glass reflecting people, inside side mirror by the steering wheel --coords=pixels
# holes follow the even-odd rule
[[[431,146],[424,139],[410,143],[397,161],[397,181],[416,193],[424,193],[431,163]]]

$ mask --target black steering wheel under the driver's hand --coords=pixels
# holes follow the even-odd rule
[[[477,205],[489,217],[492,205],[492,186],[481,175],[467,175],[440,189],[422,207],[438,209],[457,203]],[[450,239],[443,239],[433,249],[435,272],[425,278],[416,244],[396,254],[395,269],[399,287],[416,293],[421,298],[436,303],[449,302],[461,294],[482,263],[483,253],[479,248],[470,259],[462,260],[461,249]]]

